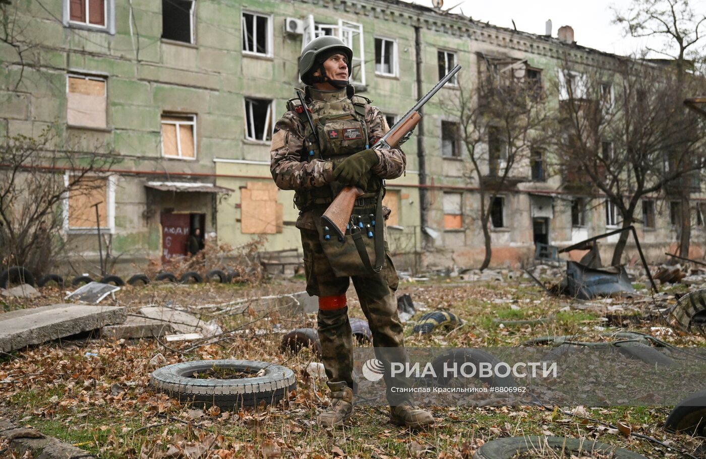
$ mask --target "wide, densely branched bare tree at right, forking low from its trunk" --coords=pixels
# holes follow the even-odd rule
[[[613,70],[578,72],[565,66],[560,75],[553,138],[569,182],[573,178],[605,195],[623,228],[635,222],[644,197],[677,184],[689,188],[685,179],[704,164],[706,132],[674,92],[673,68],[624,59]],[[691,78],[683,84],[699,82]],[[621,233],[611,264],[621,262],[627,239],[628,233]]]

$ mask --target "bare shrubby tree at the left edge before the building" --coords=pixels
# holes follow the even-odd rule
[[[50,129],[35,138],[16,135],[0,145],[0,263],[35,274],[56,260],[68,195],[103,186],[110,154],[59,149]]]

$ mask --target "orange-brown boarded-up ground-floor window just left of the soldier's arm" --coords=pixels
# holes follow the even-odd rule
[[[277,202],[277,185],[248,182],[240,190],[240,232],[243,234],[282,233],[283,206]]]

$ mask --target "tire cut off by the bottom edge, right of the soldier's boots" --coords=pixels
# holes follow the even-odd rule
[[[563,436],[511,436],[485,443],[473,459],[510,459],[517,453],[546,451],[547,447],[566,453],[601,453],[613,459],[647,459],[645,456],[599,441],[571,439]],[[544,448],[544,450],[542,449]],[[548,455],[546,457],[549,457]]]

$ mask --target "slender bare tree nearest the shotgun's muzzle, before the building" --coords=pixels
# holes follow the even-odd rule
[[[491,261],[491,208],[503,190],[528,180],[530,156],[546,148],[549,112],[538,79],[527,78],[523,61],[483,60],[478,82],[459,85],[445,111],[458,119],[460,142],[471,168],[469,179],[479,190],[479,221],[485,256]]]

